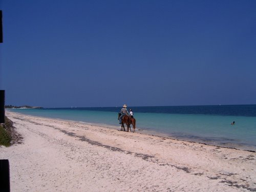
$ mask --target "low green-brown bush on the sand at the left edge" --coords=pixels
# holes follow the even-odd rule
[[[0,125],[0,145],[10,146],[21,143],[23,138],[16,132],[13,122],[5,117],[5,123]]]

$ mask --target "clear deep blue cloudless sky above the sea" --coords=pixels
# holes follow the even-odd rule
[[[6,104],[256,104],[255,0],[0,6]]]

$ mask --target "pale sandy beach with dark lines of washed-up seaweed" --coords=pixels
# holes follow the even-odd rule
[[[6,112],[11,191],[256,191],[256,153]]]

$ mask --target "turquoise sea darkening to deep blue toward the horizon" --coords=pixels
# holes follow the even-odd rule
[[[27,115],[120,129],[121,107],[10,109]],[[132,107],[136,131],[145,134],[256,151],[256,105]],[[235,121],[234,125],[231,122]]]

